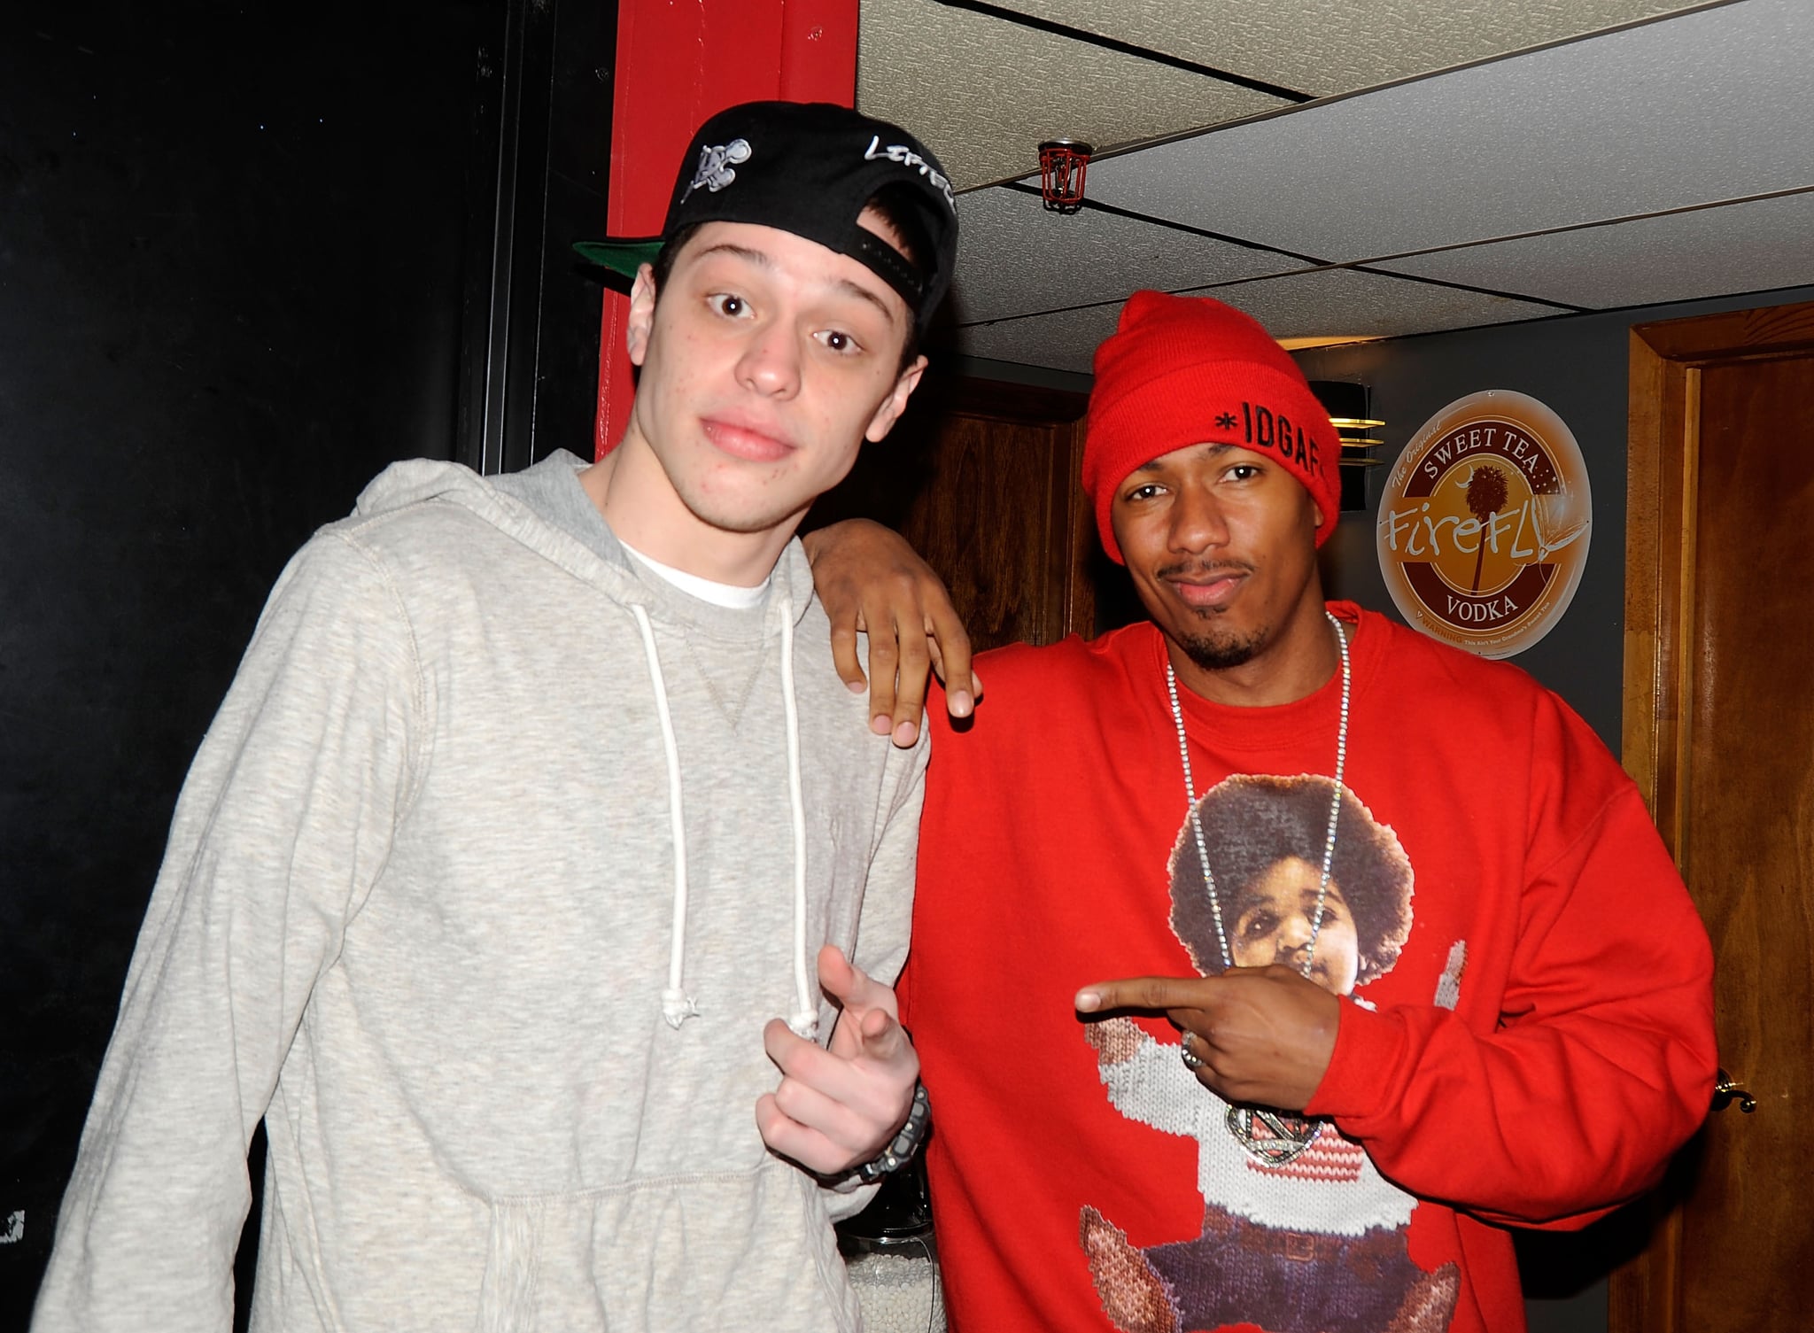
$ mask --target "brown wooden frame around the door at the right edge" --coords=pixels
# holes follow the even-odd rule
[[[1622,758],[1683,871],[1692,832],[1685,802],[1694,691],[1702,370],[1810,348],[1814,301],[1631,328]],[[1680,1192],[1663,1190],[1651,1206],[1649,1244],[1607,1282],[1609,1333],[1685,1333]]]

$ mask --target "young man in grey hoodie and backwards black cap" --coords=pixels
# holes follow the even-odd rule
[[[831,1219],[925,1119],[887,985],[925,749],[869,731],[793,533],[905,408],[956,214],[905,132],[753,103],[660,239],[613,453],[397,464],[278,582],[40,1333],[227,1329],[259,1119],[261,1333],[856,1328]]]

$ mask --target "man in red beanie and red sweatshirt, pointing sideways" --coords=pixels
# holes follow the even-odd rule
[[[1711,950],[1636,789],[1518,667],[1324,602],[1337,457],[1257,323],[1136,294],[1083,482],[1150,620],[932,711],[902,1016],[965,1333],[1522,1329],[1507,1228],[1705,1114]],[[880,542],[822,535],[822,591]]]

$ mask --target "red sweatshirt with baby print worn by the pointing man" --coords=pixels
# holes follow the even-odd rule
[[[1092,1043],[1072,1010],[1087,981],[1221,970],[1157,629],[990,653],[974,725],[932,709],[902,1007],[960,1333],[1522,1329],[1502,1224],[1585,1224],[1707,1112],[1707,936],[1605,745],[1517,667],[1331,611],[1359,628],[1319,958],[1346,919],[1359,967],[1322,1123],[1284,1121],[1308,1146],[1230,1117],[1163,1019]],[[1179,695],[1226,894],[1232,843],[1264,861],[1273,834],[1214,832],[1214,800],[1321,782],[1326,809],[1341,675],[1279,707]]]

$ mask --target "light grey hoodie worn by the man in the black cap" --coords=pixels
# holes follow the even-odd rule
[[[824,941],[898,972],[925,753],[869,733],[798,542],[766,606],[707,606],[579,466],[397,464],[283,573],[178,802],[40,1333],[227,1329],[259,1117],[258,1333],[856,1328],[862,1195],[766,1152],[762,1025],[804,983],[829,1034]]]

